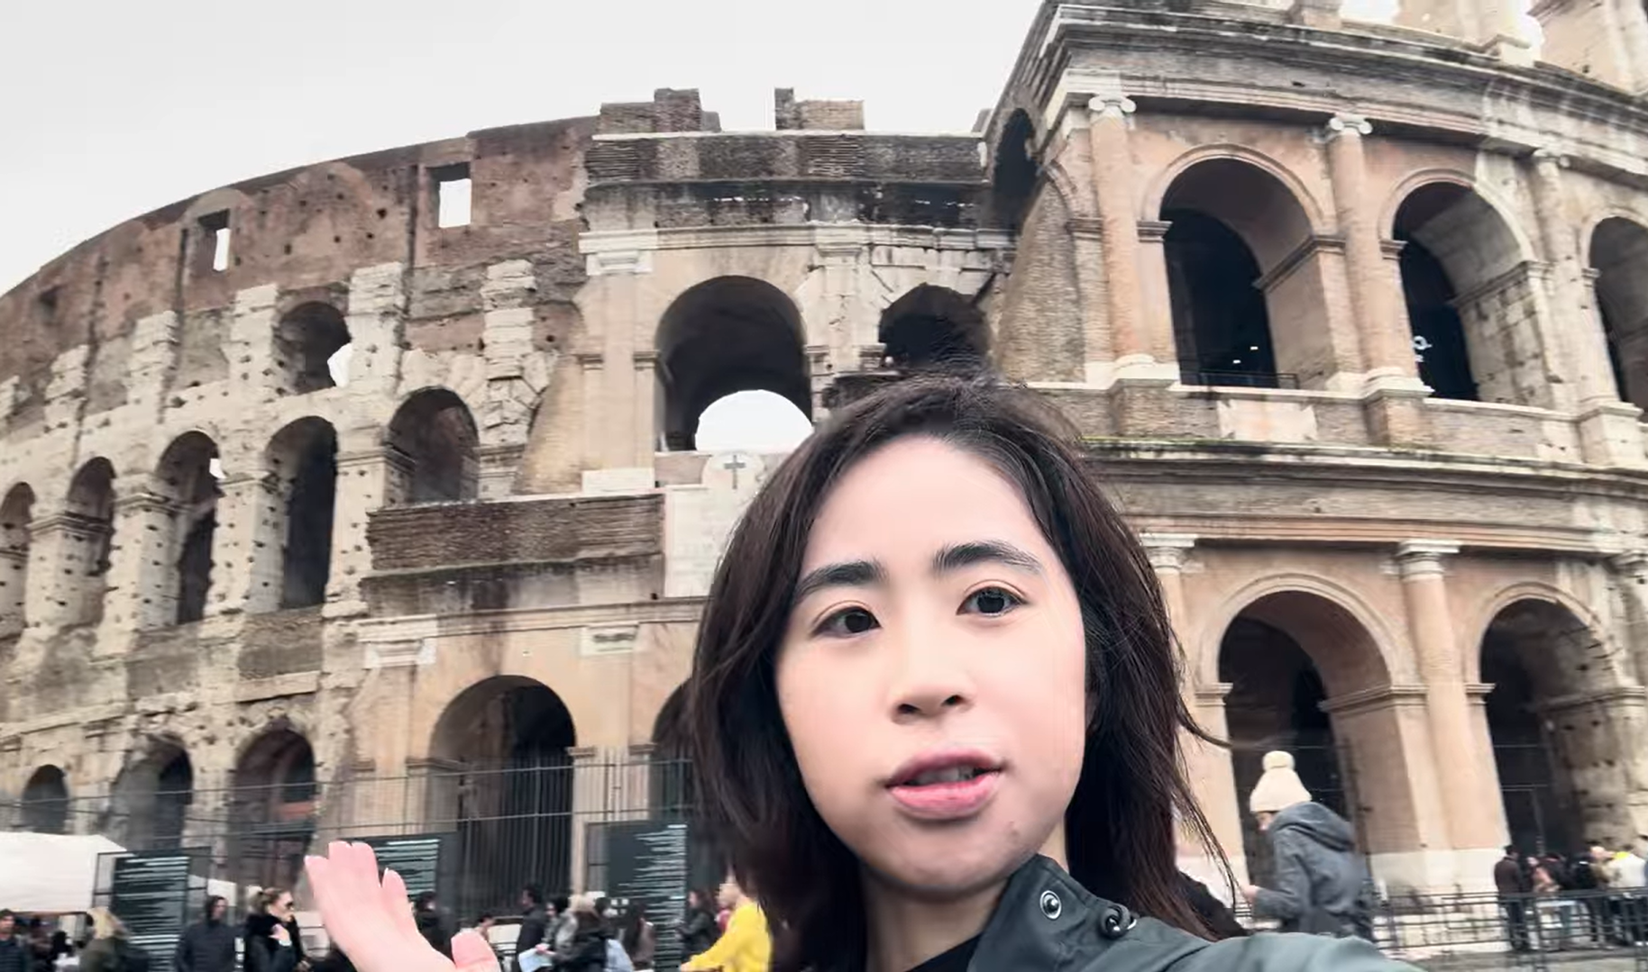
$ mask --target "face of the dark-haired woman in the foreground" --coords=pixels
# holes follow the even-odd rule
[[[812,804],[875,875],[959,895],[1063,860],[1084,685],[1074,586],[1009,479],[925,437],[842,476],[778,702]]]

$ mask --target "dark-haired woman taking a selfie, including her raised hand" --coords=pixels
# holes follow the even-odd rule
[[[775,972],[1399,969],[1356,939],[1203,937],[1175,809],[1216,848],[1162,595],[1042,409],[892,386],[803,443],[728,544],[682,725]],[[339,936],[386,928],[349,908],[371,867],[341,843],[310,862]],[[394,937],[364,972],[438,972]]]

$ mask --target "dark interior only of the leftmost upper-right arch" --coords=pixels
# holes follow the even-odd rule
[[[1256,287],[1259,262],[1218,219],[1165,209],[1173,343],[1185,384],[1277,386],[1271,315]]]

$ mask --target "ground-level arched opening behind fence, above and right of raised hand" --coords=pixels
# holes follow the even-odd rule
[[[503,914],[527,883],[572,890],[575,745],[565,703],[531,679],[478,682],[442,713],[432,815],[456,824],[460,913]]]

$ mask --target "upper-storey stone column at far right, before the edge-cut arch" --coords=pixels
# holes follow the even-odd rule
[[[1587,313],[1592,293],[1579,260],[1577,221],[1569,213],[1562,185],[1566,168],[1567,158],[1559,152],[1541,148],[1533,153],[1534,213],[1551,264],[1551,325],[1552,334],[1561,338],[1547,341],[1546,353],[1557,357],[1559,374],[1577,389],[1579,442],[1585,461],[1648,468],[1638,425],[1641,409],[1620,402],[1600,316]]]

